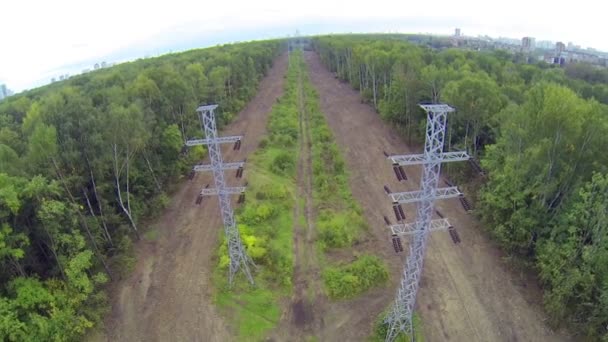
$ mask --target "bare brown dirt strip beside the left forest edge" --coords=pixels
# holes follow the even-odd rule
[[[244,135],[240,151],[223,149],[226,160],[243,160],[258,146],[268,113],[283,92],[286,56],[279,57],[262,80],[258,94],[223,130]],[[193,113],[194,115],[194,113]],[[246,172],[245,172],[246,176]],[[237,184],[228,177],[229,185]],[[210,174],[197,174],[179,185],[169,208],[155,226],[156,241],[137,245],[134,272],[112,291],[112,312],[106,321],[107,341],[230,341],[230,327],[218,315],[211,298],[212,254],[221,233],[214,198],[194,204]]]

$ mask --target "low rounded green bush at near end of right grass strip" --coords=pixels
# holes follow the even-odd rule
[[[328,267],[323,283],[331,298],[352,298],[388,280],[386,265],[376,256],[364,255],[350,264]]]

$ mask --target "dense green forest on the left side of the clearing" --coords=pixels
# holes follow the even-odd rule
[[[280,41],[141,59],[0,102],[0,340],[71,341],[108,310],[144,220],[205,155],[199,104],[238,113]]]

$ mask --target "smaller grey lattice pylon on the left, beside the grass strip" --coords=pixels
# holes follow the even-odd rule
[[[228,281],[232,285],[234,275],[241,269],[247,276],[249,282],[253,284],[253,277],[249,271],[249,265],[255,267],[255,264],[247,255],[247,252],[243,247],[239,230],[234,219],[234,212],[232,211],[232,206],[230,204],[230,195],[234,194],[240,195],[239,202],[244,201],[245,187],[227,187],[226,181],[224,180],[224,170],[237,170],[237,178],[242,177],[245,162],[224,163],[220,149],[220,144],[225,143],[234,143],[233,149],[240,149],[242,137],[229,136],[219,138],[217,136],[214,112],[216,108],[217,105],[209,105],[201,106],[196,110],[201,116],[205,138],[186,141],[186,146],[207,145],[211,164],[196,165],[193,168],[193,171],[212,171],[215,180],[215,188],[203,188],[199,194],[197,203],[200,203],[203,196],[218,196],[222,220],[224,222],[224,233],[226,234],[226,242],[228,243],[228,255],[230,256]]]

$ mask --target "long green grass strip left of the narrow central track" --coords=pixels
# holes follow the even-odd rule
[[[280,299],[292,291],[293,210],[301,205],[295,200],[299,139],[297,72],[293,66],[288,69],[285,93],[270,113],[269,136],[248,159],[247,201],[236,210],[241,240],[257,265],[252,270],[255,286],[238,274],[233,288],[229,288],[226,274],[230,260],[223,235],[217,253],[215,301],[236,327],[239,341],[264,340],[280,320]]]

